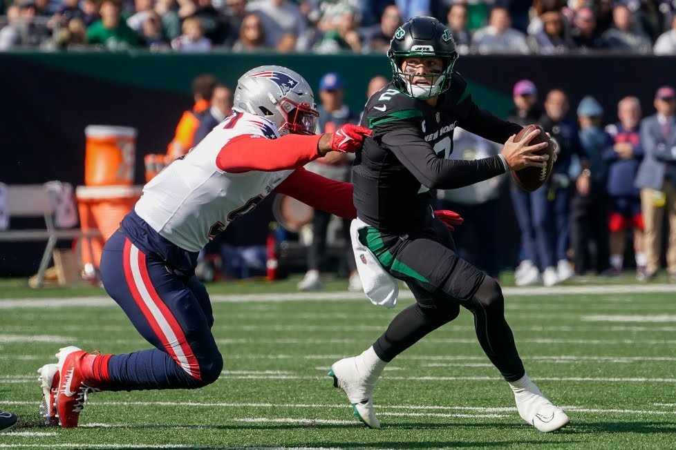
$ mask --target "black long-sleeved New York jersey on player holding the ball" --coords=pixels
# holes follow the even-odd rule
[[[459,188],[505,173],[498,156],[448,159],[456,126],[500,144],[521,129],[478,108],[457,72],[434,107],[388,84],[366,102],[362,126],[373,135],[355,157],[355,207],[359,218],[384,233],[423,226],[431,214],[431,189]]]

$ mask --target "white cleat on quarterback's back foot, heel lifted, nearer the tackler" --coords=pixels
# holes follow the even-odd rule
[[[331,366],[328,375],[333,377],[333,386],[343,390],[352,404],[355,416],[369,428],[380,428],[380,421],[373,409],[373,389],[377,375],[364,377],[359,373],[357,357],[344,358]],[[378,374],[379,375],[379,374]]]

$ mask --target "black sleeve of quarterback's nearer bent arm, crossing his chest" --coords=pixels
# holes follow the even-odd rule
[[[400,121],[381,137],[382,144],[409,169],[420,184],[430,189],[457,189],[507,171],[499,155],[474,161],[438,157],[420,132]]]

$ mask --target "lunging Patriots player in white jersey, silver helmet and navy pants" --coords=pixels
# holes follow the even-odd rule
[[[198,252],[237,217],[276,192],[356,217],[351,184],[303,169],[330,151],[354,153],[370,130],[351,124],[314,135],[314,95],[293,70],[246,72],[234,114],[143,188],[101,258],[106,291],[155,348],[123,355],[67,346],[39,369],[47,424],[77,427],[88,393],[195,389],[223,369],[209,295],[194,275]]]

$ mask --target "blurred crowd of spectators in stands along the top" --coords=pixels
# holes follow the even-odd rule
[[[0,0],[0,50],[385,52],[415,15],[461,54],[676,55],[675,0]]]

